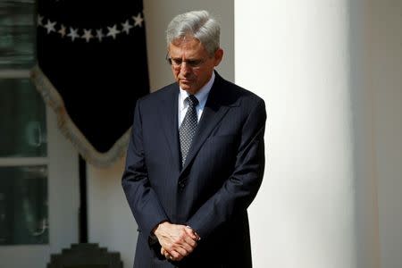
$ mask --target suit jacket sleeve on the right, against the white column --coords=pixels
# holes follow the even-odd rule
[[[255,198],[264,175],[265,121],[264,101],[259,99],[241,129],[236,164],[230,178],[187,222],[201,238],[208,237],[234,214],[246,211]]]

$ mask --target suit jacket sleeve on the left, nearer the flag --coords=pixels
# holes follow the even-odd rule
[[[168,217],[148,180],[140,111],[138,100],[121,185],[139,230],[150,235],[152,229]]]

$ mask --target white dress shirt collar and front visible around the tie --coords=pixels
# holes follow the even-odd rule
[[[198,121],[201,118],[201,115],[203,114],[206,99],[208,98],[209,92],[211,91],[211,88],[214,84],[215,80],[215,73],[213,71],[213,74],[211,76],[211,79],[205,84],[204,87],[198,90],[197,94],[195,95],[198,100],[198,105],[196,107],[197,109],[197,119]],[[181,122],[184,120],[184,116],[187,113],[188,109],[188,103],[184,101],[186,97],[188,97],[189,94],[186,90],[183,90],[180,88],[180,93],[179,93],[179,128],[181,125]]]

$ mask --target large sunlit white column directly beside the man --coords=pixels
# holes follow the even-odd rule
[[[364,20],[364,0],[235,1],[235,80],[268,115],[256,268],[379,267]]]

